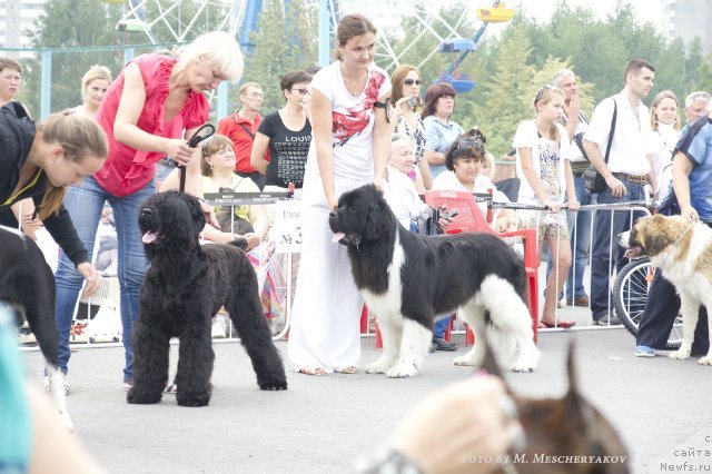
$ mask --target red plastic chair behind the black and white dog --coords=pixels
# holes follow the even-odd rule
[[[524,245],[524,267],[530,284],[528,305],[532,315],[532,329],[534,343],[538,340],[538,261],[536,257],[536,230],[521,229],[511,233],[495,233],[482,215],[474,196],[466,191],[425,191],[425,203],[433,207],[446,206],[447,209],[457,209],[457,216],[449,228],[453,233],[481,231],[497,235],[500,237],[521,237]],[[452,325],[451,325],[452,326]],[[449,328],[448,328],[449,332]],[[467,343],[471,342],[472,332],[467,328]],[[474,342],[474,338],[472,338]]]

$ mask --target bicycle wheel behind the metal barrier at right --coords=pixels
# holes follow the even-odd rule
[[[615,314],[633,336],[637,336],[637,326],[645,309],[647,292],[654,274],[655,268],[645,257],[630,261],[615,278],[613,286]],[[678,316],[668,338],[666,349],[678,349],[681,343],[682,320]]]

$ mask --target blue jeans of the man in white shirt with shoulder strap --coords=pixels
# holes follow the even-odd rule
[[[611,189],[606,187],[599,194],[599,204],[645,199],[642,185],[630,181],[624,182],[624,185],[626,189],[625,196],[613,197]],[[633,220],[642,215],[642,213],[633,213]],[[607,315],[611,275],[614,268],[620,270],[625,265],[625,259],[623,258],[625,251],[617,244],[617,236],[630,228],[630,210],[596,210],[593,256],[591,258],[591,313],[594,319]]]

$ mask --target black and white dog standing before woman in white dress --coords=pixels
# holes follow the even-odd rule
[[[382,192],[368,185],[345,192],[329,216],[334,240],[348,247],[356,286],[376,314],[383,355],[367,373],[417,374],[431,347],[433,319],[457,310],[482,340],[516,342],[513,372],[532,372],[538,359],[524,295],[524,261],[492,234],[424,236],[398,224]],[[479,365],[475,346],[455,365]]]

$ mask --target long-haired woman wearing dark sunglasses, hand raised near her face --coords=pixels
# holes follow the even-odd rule
[[[415,109],[423,105],[421,100],[421,72],[412,65],[400,65],[390,75],[390,101],[393,113],[390,118],[392,131],[407,137],[414,145],[414,157],[417,169],[423,178],[425,189],[431,189],[433,179],[427,160],[423,159],[425,151],[425,128],[421,116]]]

